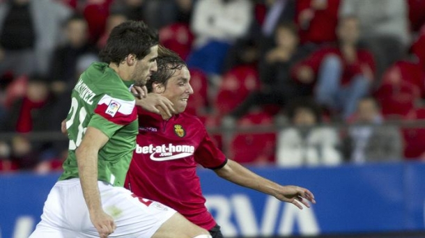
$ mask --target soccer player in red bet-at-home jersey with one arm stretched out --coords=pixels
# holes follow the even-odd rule
[[[222,237],[219,225],[208,212],[201,192],[196,165],[212,169],[217,175],[240,186],[275,196],[300,209],[316,203],[314,195],[297,186],[281,186],[267,180],[226,156],[212,143],[202,122],[185,113],[193,93],[190,72],[173,51],[158,49],[157,72],[146,84],[149,93],[157,93],[173,102],[175,114],[139,113],[139,134],[125,187],[137,196],[157,200],[183,214],[189,221]]]

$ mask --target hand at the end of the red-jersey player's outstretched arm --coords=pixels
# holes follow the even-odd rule
[[[282,186],[279,191],[277,191],[277,194],[275,194],[275,198],[286,203],[292,203],[300,209],[302,209],[302,205],[300,203],[304,204],[306,207],[310,207],[307,201],[316,203],[314,195],[311,191],[309,191],[309,189],[297,186]]]

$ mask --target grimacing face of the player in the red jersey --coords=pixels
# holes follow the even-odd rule
[[[190,86],[190,72],[186,67],[174,72],[173,76],[167,81],[164,93],[162,93],[164,97],[173,102],[176,113],[185,111],[187,100],[189,100],[191,94],[193,94],[193,89]]]

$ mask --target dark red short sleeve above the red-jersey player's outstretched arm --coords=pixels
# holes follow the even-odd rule
[[[217,146],[215,146],[207,133],[199,147],[196,149],[194,157],[196,163],[210,169],[222,168],[227,161],[226,156],[217,148]]]

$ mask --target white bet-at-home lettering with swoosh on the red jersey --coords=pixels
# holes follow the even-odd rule
[[[147,145],[141,146],[136,145],[137,154],[150,154],[150,159],[153,161],[167,161],[172,159],[183,159],[190,157],[195,152],[195,148],[192,145]]]

